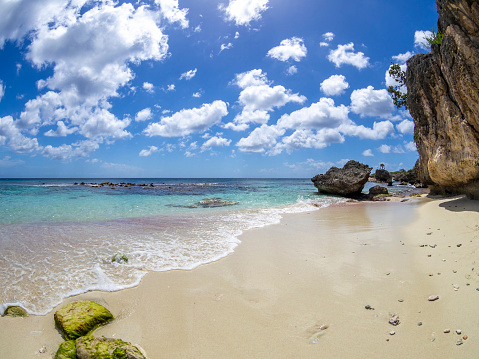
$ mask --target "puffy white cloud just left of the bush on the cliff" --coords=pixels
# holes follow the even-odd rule
[[[351,94],[351,111],[361,117],[388,118],[394,111],[394,103],[385,89],[375,90],[374,87],[368,86],[353,91]]]

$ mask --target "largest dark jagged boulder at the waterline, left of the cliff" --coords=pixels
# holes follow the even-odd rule
[[[320,193],[356,197],[361,194],[368,181],[372,167],[349,161],[343,168],[331,167],[325,174],[311,178]]]

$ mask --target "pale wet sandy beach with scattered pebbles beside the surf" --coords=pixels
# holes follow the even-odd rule
[[[240,239],[217,262],[63,304],[106,306],[116,319],[95,335],[130,341],[151,359],[479,354],[477,201],[347,203],[286,215]],[[50,358],[62,341],[53,311],[0,318],[2,358]]]

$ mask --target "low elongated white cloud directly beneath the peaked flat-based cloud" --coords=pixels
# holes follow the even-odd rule
[[[343,143],[344,137],[334,129],[326,128],[319,131],[309,129],[298,129],[291,136],[283,137],[280,143],[272,148],[268,154],[278,155],[283,150],[291,153],[301,148],[321,149],[329,146],[331,143]]]

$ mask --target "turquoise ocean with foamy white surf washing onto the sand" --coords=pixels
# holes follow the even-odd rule
[[[190,270],[248,229],[343,201],[309,179],[1,179],[0,311],[44,315],[149,271]]]

